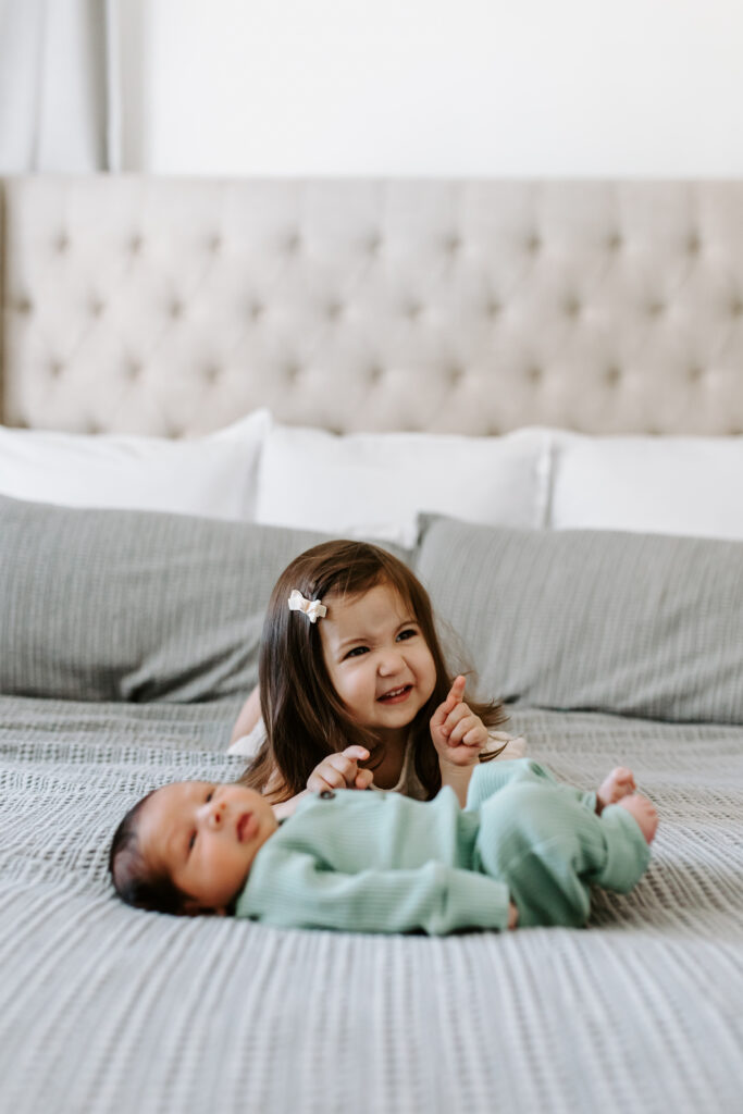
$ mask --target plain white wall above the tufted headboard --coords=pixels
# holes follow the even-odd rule
[[[741,0],[145,7],[133,169],[743,175]]]

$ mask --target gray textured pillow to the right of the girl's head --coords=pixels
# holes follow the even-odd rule
[[[481,695],[743,723],[743,543],[427,516],[416,570]]]

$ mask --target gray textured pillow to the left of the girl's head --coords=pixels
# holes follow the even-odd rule
[[[247,693],[276,577],[323,540],[0,497],[0,693],[175,702]]]

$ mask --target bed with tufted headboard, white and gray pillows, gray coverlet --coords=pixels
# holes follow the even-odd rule
[[[743,184],[8,178],[2,304],[2,1108],[740,1110]],[[531,756],[656,803],[588,929],[114,896],[134,801],[242,771],[268,590],[339,535]]]

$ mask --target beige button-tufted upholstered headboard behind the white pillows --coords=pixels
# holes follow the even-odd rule
[[[2,416],[743,430],[743,182],[2,182]]]

